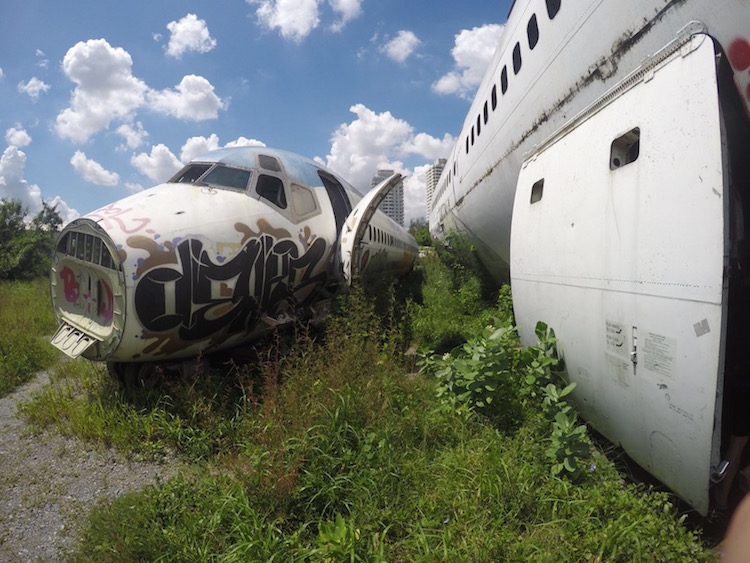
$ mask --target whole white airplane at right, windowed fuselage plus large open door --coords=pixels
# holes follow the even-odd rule
[[[517,0],[430,215],[510,280],[523,342],[555,330],[587,420],[704,514],[746,291],[749,22],[741,0]]]

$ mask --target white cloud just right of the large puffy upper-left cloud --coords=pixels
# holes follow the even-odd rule
[[[152,90],[147,97],[152,109],[188,121],[214,119],[225,107],[211,83],[194,74],[183,77],[174,90]]]

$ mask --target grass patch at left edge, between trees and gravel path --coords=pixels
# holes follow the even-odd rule
[[[56,328],[46,279],[0,282],[0,397],[54,362],[58,354],[42,337]]]

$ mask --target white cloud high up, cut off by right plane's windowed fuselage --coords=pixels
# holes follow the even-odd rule
[[[505,26],[488,24],[464,29],[456,35],[451,50],[454,68],[432,85],[438,94],[458,94],[468,98],[482,82]]]

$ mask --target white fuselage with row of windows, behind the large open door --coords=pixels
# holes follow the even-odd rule
[[[555,4],[559,11],[550,19],[547,7]],[[533,49],[532,18],[538,28]],[[689,23],[700,22],[729,50],[750,35],[749,18],[750,6],[741,0],[516,2],[433,196],[431,232],[471,233],[486,265],[507,278],[511,213],[525,155]],[[520,55],[517,72],[515,53]],[[747,104],[750,76],[737,75]]]

